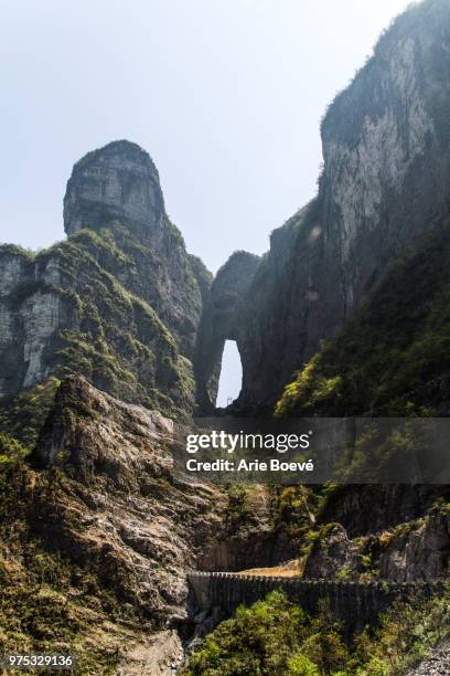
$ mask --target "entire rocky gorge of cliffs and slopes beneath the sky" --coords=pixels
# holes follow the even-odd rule
[[[326,110],[315,198],[214,278],[127,140],[75,163],[64,242],[0,246],[0,652],[73,648],[85,674],[384,675],[447,645],[449,486],[218,486],[174,457],[194,414],[225,413],[226,340],[243,366],[229,415],[448,415],[449,74],[450,4],[425,0]],[[389,589],[433,583],[428,605],[378,619]],[[254,610],[182,666],[199,626],[227,616],[224,588],[228,615]],[[288,588],[304,616],[292,594],[262,599]],[[364,606],[353,644],[326,594],[338,620]]]

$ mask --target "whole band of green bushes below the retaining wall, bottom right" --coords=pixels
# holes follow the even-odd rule
[[[394,676],[450,634],[450,591],[397,602],[381,625],[350,641],[325,608],[312,619],[271,592],[222,622],[191,655],[183,676]]]

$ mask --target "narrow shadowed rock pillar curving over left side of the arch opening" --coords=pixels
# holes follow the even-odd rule
[[[210,413],[215,408],[225,341],[235,340],[243,358],[243,300],[258,265],[258,256],[235,252],[221,267],[211,287],[194,361],[199,413]]]

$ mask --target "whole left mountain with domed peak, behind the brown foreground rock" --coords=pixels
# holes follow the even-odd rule
[[[148,154],[116,141],[79,160],[64,223],[68,240],[36,255],[0,247],[0,397],[75,372],[190,412],[210,274],[169,221]]]

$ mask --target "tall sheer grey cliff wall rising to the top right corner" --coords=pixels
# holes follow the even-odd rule
[[[275,231],[248,292],[243,404],[271,403],[447,213],[449,72],[450,6],[427,0],[395,21],[330,106],[318,197]]]

